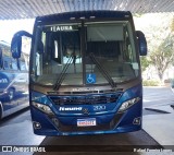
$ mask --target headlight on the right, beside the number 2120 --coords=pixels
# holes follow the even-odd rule
[[[126,109],[128,109],[130,106],[133,106],[134,104],[139,102],[139,97],[135,97],[133,99],[126,100],[122,104],[122,106],[119,109],[119,112],[125,111]]]

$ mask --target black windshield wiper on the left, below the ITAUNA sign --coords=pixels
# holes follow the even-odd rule
[[[63,68],[63,70],[62,70],[59,79],[57,80],[57,82],[55,82],[55,84],[54,84],[53,90],[58,91],[59,87],[61,86],[61,84],[62,84],[62,82],[63,82],[63,80],[65,79],[65,75],[66,75],[65,72],[66,72],[67,68],[70,67],[72,60],[73,60],[73,56],[71,56],[71,57],[69,58],[67,62],[65,63],[65,65],[64,65],[64,68]]]

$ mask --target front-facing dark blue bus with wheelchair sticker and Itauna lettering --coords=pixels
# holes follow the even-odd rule
[[[141,129],[139,56],[147,41],[130,12],[79,11],[38,16],[32,38],[29,105],[35,134],[74,135]]]

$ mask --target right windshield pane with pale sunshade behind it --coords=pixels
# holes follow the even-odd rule
[[[88,24],[86,44],[86,56],[94,53],[101,68],[115,83],[125,82],[138,75],[139,67],[133,32],[128,23]],[[87,76],[96,78],[94,83],[105,83],[102,72],[94,62],[86,62],[86,72]]]

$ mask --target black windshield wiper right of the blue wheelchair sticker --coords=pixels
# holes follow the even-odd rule
[[[97,68],[100,70],[100,72],[107,79],[107,81],[109,82],[109,84],[111,85],[111,87],[114,88],[116,86],[115,83],[114,83],[114,81],[112,80],[111,75],[105,71],[105,69],[100,64],[100,62],[96,59],[95,55],[92,52],[90,52],[89,57],[96,63]]]

